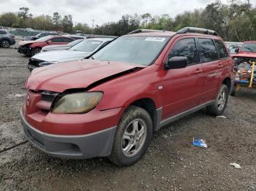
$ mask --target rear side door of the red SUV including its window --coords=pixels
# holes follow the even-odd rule
[[[200,104],[215,100],[219,91],[219,80],[222,77],[222,61],[219,59],[214,40],[198,38],[200,61],[203,66],[205,81]]]

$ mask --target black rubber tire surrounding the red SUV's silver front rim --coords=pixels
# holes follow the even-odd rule
[[[143,144],[141,144],[140,149],[138,149],[138,152],[132,154],[134,156],[126,156],[123,148],[125,142],[123,139],[124,132],[129,128],[129,124],[133,125],[131,122],[135,122],[136,120],[141,120],[141,122],[144,122],[143,124],[146,125],[146,135],[143,136],[144,141]],[[116,135],[113,142],[113,149],[108,159],[119,166],[128,166],[137,163],[148,149],[148,146],[151,143],[152,133],[153,124],[148,112],[138,106],[129,106],[121,117],[121,120],[118,122]],[[140,140],[142,139],[141,137],[139,138]]]

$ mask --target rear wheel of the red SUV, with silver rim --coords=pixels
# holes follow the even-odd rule
[[[206,110],[209,114],[218,116],[221,115],[227,106],[227,100],[228,100],[228,88],[227,85],[222,84],[222,86],[219,89],[219,93],[217,95],[216,100],[214,101],[214,104],[211,106],[207,106]],[[224,97],[224,99],[223,99]],[[221,101],[222,99],[222,101]]]

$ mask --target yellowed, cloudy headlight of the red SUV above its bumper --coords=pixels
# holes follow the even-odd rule
[[[53,106],[52,112],[58,114],[78,114],[90,112],[102,98],[101,92],[72,93],[64,95]]]

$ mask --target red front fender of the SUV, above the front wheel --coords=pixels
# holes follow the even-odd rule
[[[157,108],[162,106],[162,90],[159,90],[158,65],[127,74],[117,79],[105,82],[89,91],[102,91],[102,101],[97,109],[106,110],[117,107],[127,107],[142,98],[150,98]],[[151,71],[148,71],[151,70]]]

